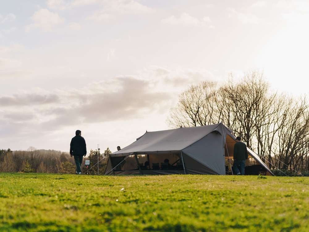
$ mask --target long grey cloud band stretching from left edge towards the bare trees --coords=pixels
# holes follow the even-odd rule
[[[114,54],[112,49],[111,54]],[[205,80],[210,75],[205,70],[151,67],[144,69],[138,76],[119,76],[79,89],[32,89],[20,91],[19,94],[0,95],[0,105],[6,120],[14,122],[15,118],[22,119],[24,110],[27,109],[29,114],[36,115],[35,118],[41,120],[31,122],[33,127],[44,130],[55,130],[55,127],[59,129],[67,124],[77,125],[83,122],[129,120],[143,117],[144,114],[141,113],[168,112],[172,101],[176,101],[183,88]],[[102,110],[108,114],[102,114]],[[80,117],[72,118],[72,115]]]

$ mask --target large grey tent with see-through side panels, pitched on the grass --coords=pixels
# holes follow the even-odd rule
[[[235,136],[222,123],[151,131],[129,146],[110,154],[106,175],[219,174],[231,170]],[[253,165],[273,175],[256,153],[248,149]],[[251,162],[252,163],[252,162]]]

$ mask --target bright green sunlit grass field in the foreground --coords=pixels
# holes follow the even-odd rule
[[[309,231],[309,178],[0,174],[0,231]]]

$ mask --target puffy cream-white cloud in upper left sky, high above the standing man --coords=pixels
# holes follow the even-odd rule
[[[56,25],[61,24],[62,19],[57,13],[53,13],[48,9],[40,9],[32,15],[34,23],[26,26],[26,31],[30,31],[32,28],[40,28],[43,31],[51,31]]]

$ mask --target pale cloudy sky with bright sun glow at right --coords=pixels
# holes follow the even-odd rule
[[[0,0],[0,148],[116,151],[230,73],[307,94],[308,24],[301,0]]]

